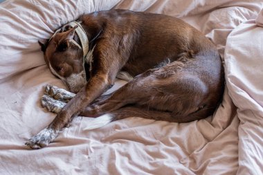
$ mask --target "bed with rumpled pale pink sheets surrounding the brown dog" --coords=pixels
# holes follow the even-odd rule
[[[93,119],[77,117],[48,147],[28,149],[26,140],[55,118],[41,106],[44,86],[66,88],[37,40],[84,13],[112,8],[179,17],[210,38],[225,67],[221,105],[184,124],[134,116],[87,131]],[[0,174],[262,174],[262,8],[262,0],[0,3]]]

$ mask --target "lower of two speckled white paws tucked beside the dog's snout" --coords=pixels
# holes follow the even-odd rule
[[[46,108],[49,112],[60,113],[62,108],[66,105],[65,102],[55,100],[48,95],[43,95],[41,99],[42,107]]]

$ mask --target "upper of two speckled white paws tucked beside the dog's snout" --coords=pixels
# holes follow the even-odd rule
[[[46,85],[44,93],[51,96],[55,100],[60,100],[62,102],[69,102],[69,100],[75,96],[75,93],[71,93],[65,89],[60,89],[51,84]]]

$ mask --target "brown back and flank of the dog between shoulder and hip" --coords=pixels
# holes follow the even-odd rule
[[[103,28],[101,39],[108,38],[119,50],[125,48],[122,56],[129,62],[123,69],[129,69],[132,75],[154,68],[165,59],[173,62],[182,53],[200,55],[206,52],[204,56],[216,61],[215,66],[221,64],[212,42],[181,19],[145,12],[110,10],[84,15],[81,20],[91,28]]]

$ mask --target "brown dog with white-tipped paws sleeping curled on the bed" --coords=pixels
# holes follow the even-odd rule
[[[93,12],[39,44],[48,68],[71,93],[46,86],[42,104],[57,116],[26,142],[32,149],[52,142],[74,116],[98,117],[91,129],[132,116],[200,120],[212,115],[224,91],[224,69],[215,45],[174,17]],[[129,82],[102,95],[116,77]]]

